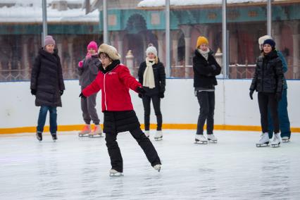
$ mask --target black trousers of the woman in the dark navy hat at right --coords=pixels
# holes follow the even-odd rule
[[[258,92],[258,106],[261,113],[261,130],[268,132],[268,109],[270,109],[274,132],[280,132],[277,111],[278,102],[275,99],[275,93]]]

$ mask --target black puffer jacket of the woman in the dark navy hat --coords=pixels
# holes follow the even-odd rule
[[[284,75],[282,61],[276,51],[268,55],[259,56],[250,90],[257,92],[282,92]]]

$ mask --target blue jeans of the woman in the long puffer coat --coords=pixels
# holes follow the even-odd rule
[[[46,123],[46,116],[47,113],[50,113],[50,132],[51,134],[56,134],[57,131],[57,113],[56,113],[56,107],[52,106],[41,106],[39,109],[39,119],[37,120],[37,131],[43,132],[44,131],[44,125]]]

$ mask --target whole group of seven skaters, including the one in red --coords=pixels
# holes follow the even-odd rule
[[[279,146],[282,139],[289,140],[290,127],[287,115],[287,82],[283,73],[287,71],[285,58],[275,49],[275,42],[269,36],[259,40],[261,56],[256,62],[256,71],[250,87],[250,97],[254,90],[258,92],[258,104],[261,112],[263,135],[257,146],[267,145],[272,137],[273,146]],[[159,61],[157,50],[153,44],[146,49],[146,59],[139,66],[139,81],[130,75],[128,68],[120,63],[120,54],[115,47],[108,44],[97,46],[89,42],[87,55],[78,63],[81,86],[82,118],[85,126],[80,136],[94,137],[106,133],[106,146],[111,158],[110,175],[122,175],[123,158],[116,142],[118,132],[129,131],[132,137],[146,154],[146,158],[155,170],[161,170],[161,160],[156,149],[149,140],[151,101],[157,120],[154,139],[162,139],[163,117],[161,99],[165,92],[165,68]],[[207,144],[216,143],[213,134],[215,110],[215,78],[221,72],[220,65],[215,61],[213,51],[209,48],[208,39],[199,37],[193,57],[194,94],[199,101],[200,111],[195,141]],[[37,139],[42,141],[42,132],[46,114],[50,113],[50,132],[57,139],[56,107],[62,106],[61,95],[65,90],[61,61],[55,49],[55,40],[51,36],[44,39],[44,47],[39,50],[32,68],[30,89],[36,96],[35,105],[40,106],[37,123]],[[144,132],[133,110],[129,89],[138,93],[144,106]],[[101,106],[104,113],[104,130],[96,112],[96,95],[101,90]],[[278,108],[279,104],[279,108]],[[278,112],[279,109],[279,112]],[[269,118],[268,118],[269,115]],[[278,117],[279,115],[279,117]],[[279,120],[280,118],[280,120]],[[94,123],[94,130],[91,127]],[[207,125],[207,139],[204,136],[204,124]],[[280,136],[281,130],[281,136]]]

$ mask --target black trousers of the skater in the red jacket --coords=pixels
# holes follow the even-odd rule
[[[151,163],[151,166],[161,164],[161,160],[158,157],[156,149],[140,128],[136,130],[130,130],[130,134],[137,140],[137,143],[143,149],[148,161]],[[118,132],[106,132],[105,140],[108,154],[111,158],[111,168],[123,173],[123,158],[118,146],[118,142],[116,141],[117,135]]]

